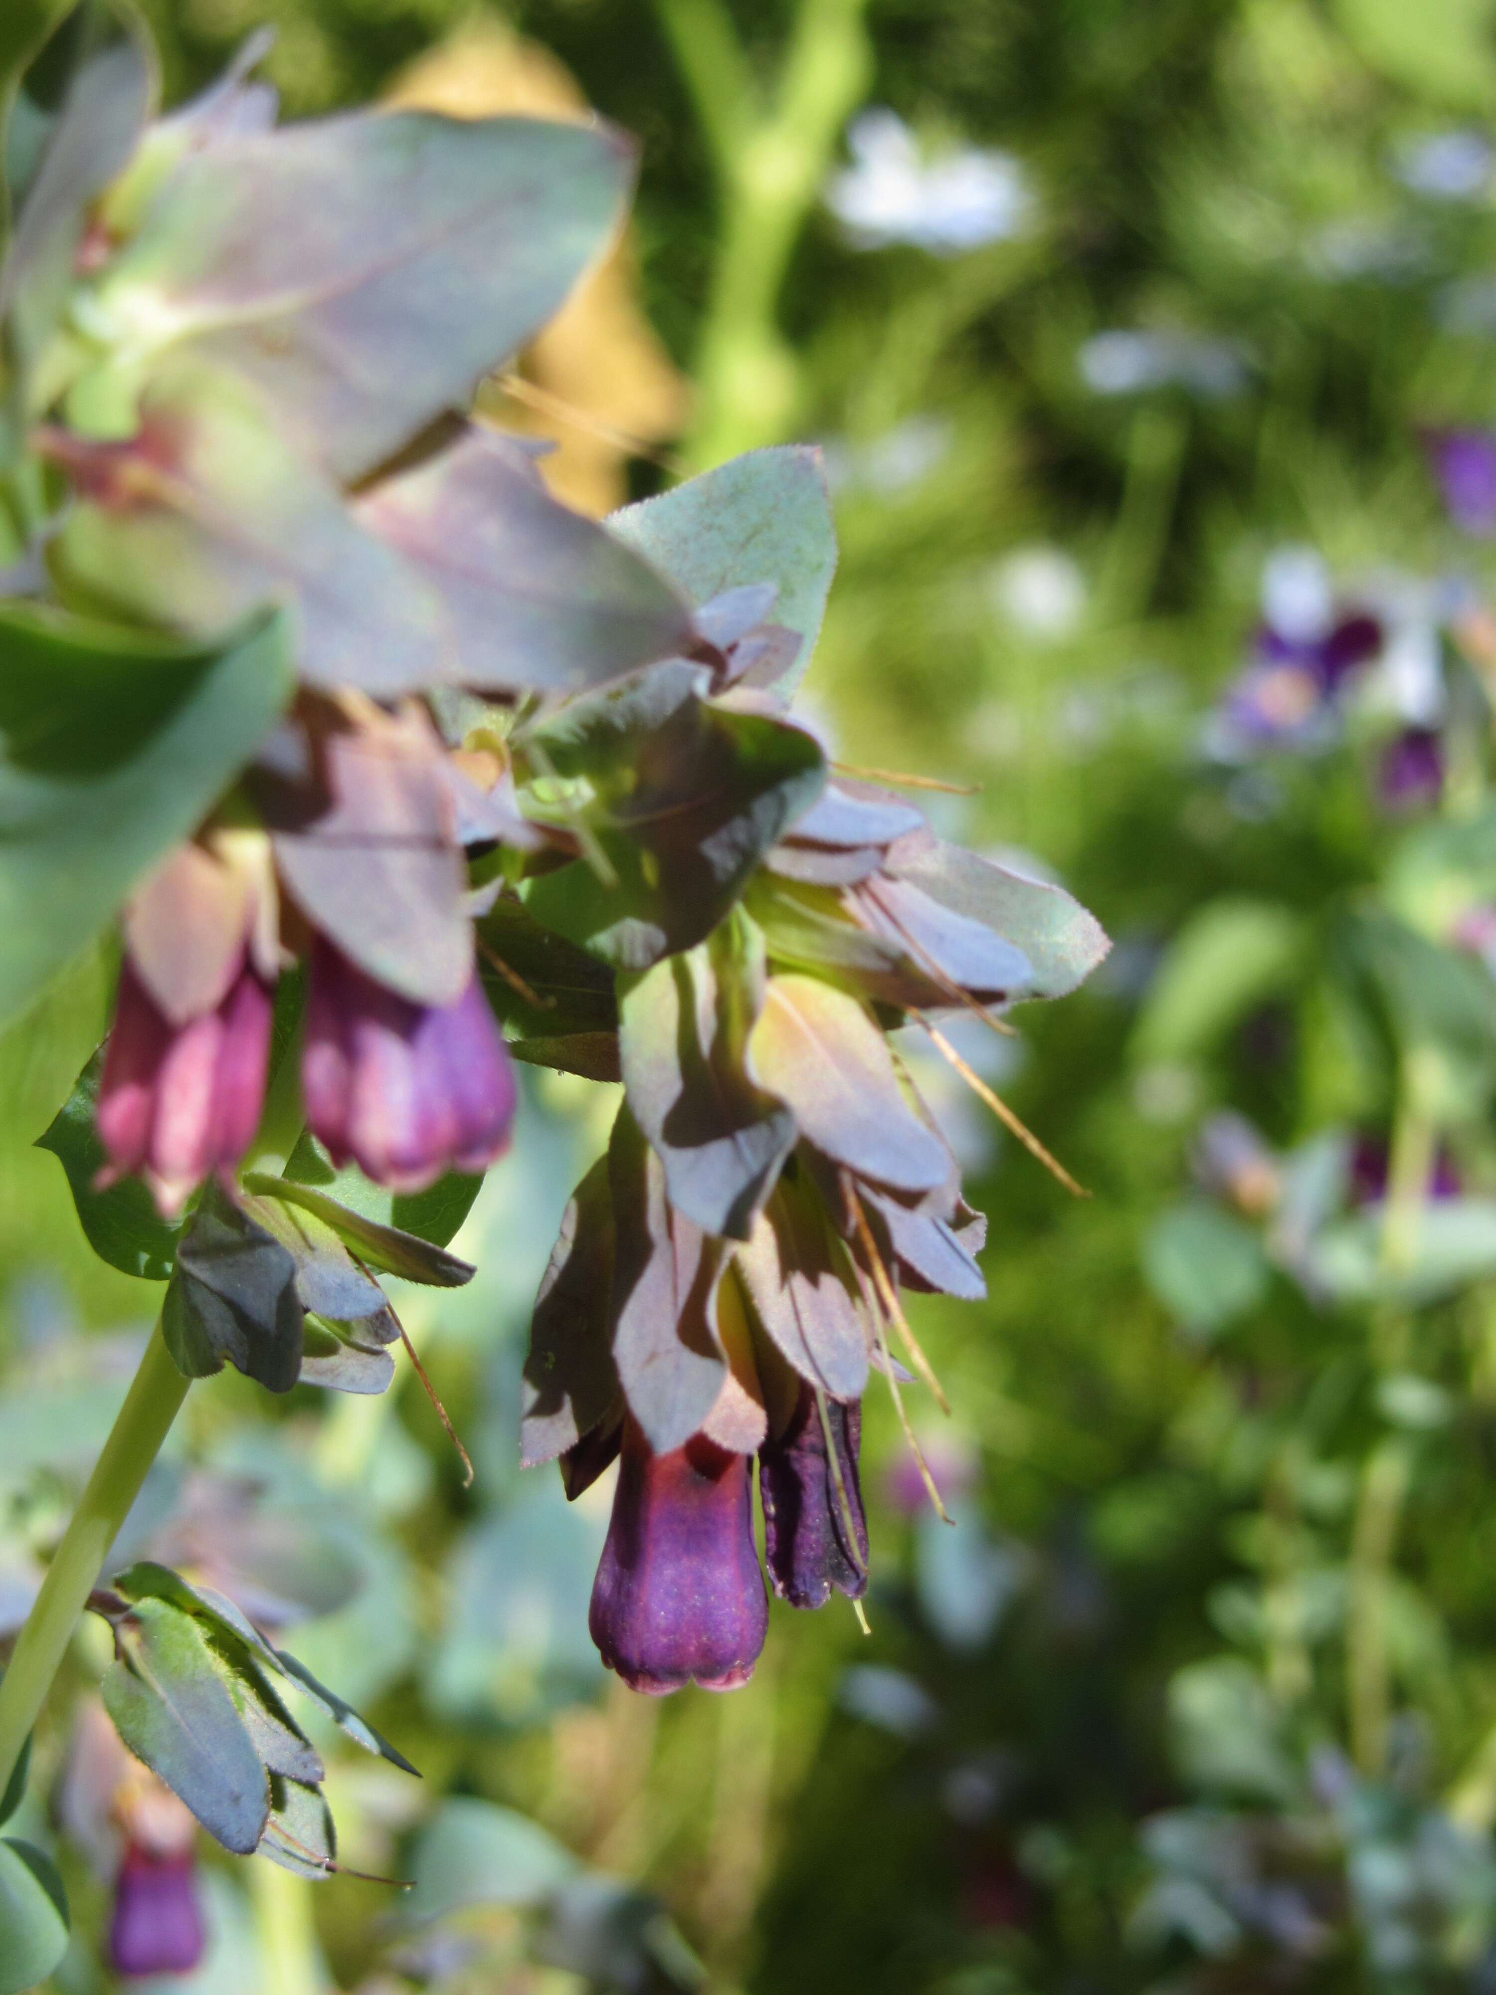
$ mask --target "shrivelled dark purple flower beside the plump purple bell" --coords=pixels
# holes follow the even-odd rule
[[[758,1500],[764,1506],[764,1558],[780,1600],[824,1608],[832,1590],[860,1600],[868,1592],[868,1520],[858,1482],[862,1406],[826,1400],[826,1448],[816,1395],[800,1385],[790,1424],[758,1450]]]

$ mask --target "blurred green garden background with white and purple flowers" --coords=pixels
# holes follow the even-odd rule
[[[541,1073],[413,1379],[191,1395],[136,1542],[259,1588],[423,1768],[337,1760],[399,1897],[203,1853],[203,1995],[1496,1991],[1496,6],[146,0],[168,100],[586,106],[614,263],[497,421],[604,511],[826,449],[838,754],[1115,950],[943,1067],[989,1301],[868,1408],[874,1584],[664,1704],[586,1640],[606,1492],[517,1470],[527,1311],[610,1101]],[[0,1041],[0,1620],[152,1293],[32,1149],[110,966]],[[28,1833],[104,1991],[80,1636]],[[72,1756],[72,1760],[70,1760]],[[50,1815],[44,1803],[50,1794]]]

